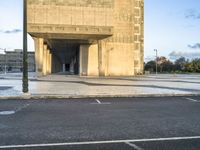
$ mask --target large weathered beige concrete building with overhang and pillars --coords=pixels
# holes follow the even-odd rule
[[[144,0],[27,0],[39,76],[143,73]]]

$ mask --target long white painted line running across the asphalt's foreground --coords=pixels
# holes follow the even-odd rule
[[[70,142],[70,143],[5,145],[5,146],[0,146],[0,149],[49,147],[49,146],[73,146],[73,145],[91,145],[91,144],[113,144],[113,143],[127,143],[127,142],[134,143],[134,142],[154,142],[154,141],[176,141],[176,140],[191,140],[191,139],[200,139],[200,136],[152,138],[152,139],[132,139],[132,140],[110,140],[110,141],[88,141],[88,142]]]

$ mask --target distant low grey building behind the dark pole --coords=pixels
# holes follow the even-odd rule
[[[23,53],[21,49],[6,51],[0,54],[0,72],[21,72],[23,68]],[[28,52],[28,71],[35,71],[35,52]]]

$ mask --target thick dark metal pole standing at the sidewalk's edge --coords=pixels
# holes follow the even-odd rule
[[[22,91],[28,93],[28,57],[27,57],[27,1],[23,0],[23,78]]]

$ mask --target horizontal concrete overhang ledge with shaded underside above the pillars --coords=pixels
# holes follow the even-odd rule
[[[28,33],[45,39],[100,40],[113,35],[112,26],[28,24]]]

